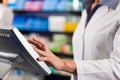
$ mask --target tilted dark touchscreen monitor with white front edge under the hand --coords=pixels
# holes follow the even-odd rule
[[[49,75],[51,70],[22,33],[13,26],[0,26],[0,62],[25,70]]]

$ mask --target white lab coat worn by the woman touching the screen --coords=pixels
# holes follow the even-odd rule
[[[116,10],[98,8],[85,28],[86,19],[83,10],[72,40],[77,66],[72,80],[120,80],[120,3]]]

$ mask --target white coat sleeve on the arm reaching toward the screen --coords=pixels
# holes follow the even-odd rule
[[[108,59],[77,61],[77,80],[120,80],[120,25]]]

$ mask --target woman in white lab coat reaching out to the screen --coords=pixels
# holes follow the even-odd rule
[[[39,38],[28,41],[39,61],[72,73],[73,80],[120,80],[120,0],[83,0],[83,5],[72,41],[74,60],[58,58]]]

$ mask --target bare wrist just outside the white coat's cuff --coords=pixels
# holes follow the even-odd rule
[[[76,64],[73,60],[63,60],[64,65],[62,71],[66,71],[72,74],[76,74]]]

